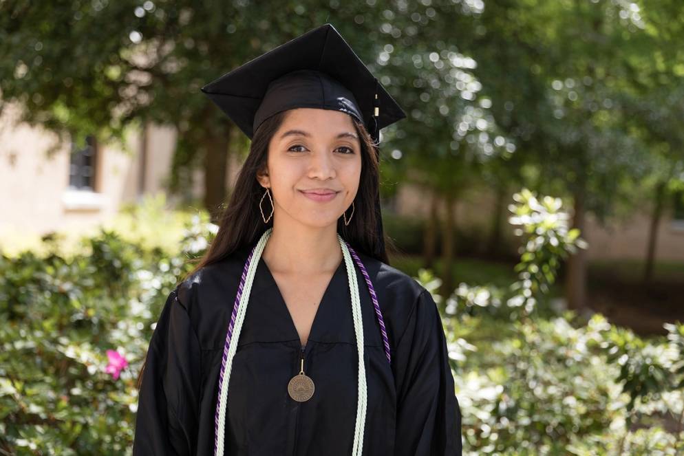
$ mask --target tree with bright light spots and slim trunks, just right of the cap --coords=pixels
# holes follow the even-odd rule
[[[383,12],[387,22],[380,29],[401,47],[395,52],[394,45],[385,45],[377,60],[378,72],[397,88],[408,116],[389,130],[396,138],[389,148],[394,149],[393,173],[430,198],[426,263],[434,255],[442,206],[443,290],[454,286],[456,202],[482,188],[485,166],[515,150],[489,113],[491,98],[482,94],[482,83],[472,73],[477,63],[453,43],[453,23],[478,14],[464,8],[457,10],[450,1],[394,4]]]

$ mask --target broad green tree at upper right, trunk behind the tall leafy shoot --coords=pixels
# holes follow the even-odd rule
[[[478,58],[475,76],[492,94],[492,113],[518,146],[517,172],[531,188],[568,195],[573,226],[633,204],[634,184],[652,166],[650,143],[628,128],[621,100],[634,96],[630,54],[653,52],[642,40],[637,3],[563,0],[485,3],[463,47]],[[674,43],[674,41],[673,41]],[[533,173],[524,173],[531,165]],[[566,264],[570,307],[586,305],[586,258]]]

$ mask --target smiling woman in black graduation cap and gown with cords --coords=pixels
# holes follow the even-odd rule
[[[252,142],[153,332],[133,455],[461,455],[438,308],[385,252],[402,109],[330,24],[202,92]]]

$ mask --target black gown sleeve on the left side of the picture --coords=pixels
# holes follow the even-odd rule
[[[167,298],[147,351],[133,456],[195,455],[202,350],[178,288]]]

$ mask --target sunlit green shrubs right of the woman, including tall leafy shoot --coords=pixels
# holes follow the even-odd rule
[[[684,325],[665,325],[667,340],[643,340],[600,314],[582,321],[540,305],[559,260],[583,242],[568,230],[559,199],[540,203],[523,190],[515,200],[511,223],[522,235],[516,269],[528,283],[461,283],[440,305],[464,454],[678,454]],[[427,270],[418,281],[433,293],[439,285]]]

